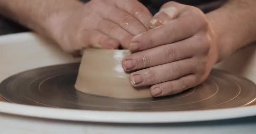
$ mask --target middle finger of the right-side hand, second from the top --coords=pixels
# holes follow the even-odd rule
[[[123,59],[123,69],[128,72],[187,59],[192,57],[197,52],[197,49],[200,49],[192,45],[193,42],[195,42],[194,39],[189,38],[173,44],[133,53]]]

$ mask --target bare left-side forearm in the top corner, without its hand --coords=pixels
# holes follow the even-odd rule
[[[69,9],[80,5],[78,0],[0,0],[0,15],[11,18],[39,33],[48,34],[49,26],[47,25],[51,16],[63,10],[68,14]]]

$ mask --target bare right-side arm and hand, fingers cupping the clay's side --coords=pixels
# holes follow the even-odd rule
[[[131,73],[131,84],[152,85],[155,97],[194,87],[206,80],[216,62],[256,40],[255,13],[255,0],[229,0],[208,14],[165,3],[153,17],[152,29],[132,39],[139,45],[130,49],[139,52],[125,57],[123,68],[139,70]]]

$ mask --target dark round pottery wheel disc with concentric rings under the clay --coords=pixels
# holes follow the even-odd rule
[[[205,82],[177,95],[117,99],[75,90],[78,67],[73,63],[21,72],[0,84],[0,95],[11,103],[104,111],[188,111],[256,104],[253,82],[221,70],[212,70]]]

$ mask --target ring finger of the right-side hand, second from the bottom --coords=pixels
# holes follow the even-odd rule
[[[195,62],[192,62],[190,58],[133,72],[129,79],[131,85],[141,87],[175,80],[184,75],[194,73],[194,70]]]

